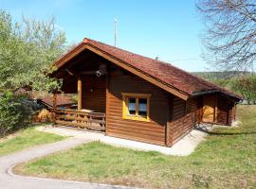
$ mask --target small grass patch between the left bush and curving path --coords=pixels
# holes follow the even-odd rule
[[[35,128],[22,129],[13,138],[0,142],[0,156],[19,151],[30,146],[43,145],[63,140],[63,136],[37,131]]]

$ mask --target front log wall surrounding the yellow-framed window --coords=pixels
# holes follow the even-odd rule
[[[121,93],[151,94],[150,121],[122,118]],[[106,134],[150,144],[165,145],[165,126],[169,116],[167,92],[124,70],[110,70],[107,90]]]

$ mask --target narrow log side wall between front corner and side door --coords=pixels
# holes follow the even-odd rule
[[[185,101],[179,97],[172,96],[171,121],[168,123],[167,128],[167,146],[173,146],[178,139],[195,126],[199,110],[198,99],[194,97]]]

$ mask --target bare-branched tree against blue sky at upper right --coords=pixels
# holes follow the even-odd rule
[[[248,70],[256,58],[256,1],[199,0],[205,58],[225,70]]]

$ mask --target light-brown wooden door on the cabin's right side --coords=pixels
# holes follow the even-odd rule
[[[215,121],[215,96],[204,96],[203,122],[213,123]]]

